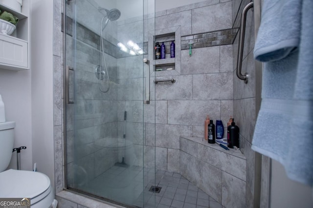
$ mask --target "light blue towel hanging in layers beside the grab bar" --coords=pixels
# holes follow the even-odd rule
[[[313,185],[313,0],[264,0],[254,58],[265,62],[252,149]]]

